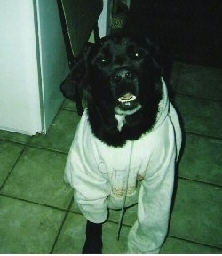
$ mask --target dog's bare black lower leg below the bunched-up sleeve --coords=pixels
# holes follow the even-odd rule
[[[87,220],[82,254],[102,254],[102,223],[97,224]]]

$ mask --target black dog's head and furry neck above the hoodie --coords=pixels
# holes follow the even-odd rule
[[[74,69],[83,70],[89,120],[100,140],[122,146],[153,127],[163,72],[155,44],[141,37],[106,36],[79,63]]]

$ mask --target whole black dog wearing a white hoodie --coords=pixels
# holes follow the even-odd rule
[[[137,202],[128,252],[155,253],[163,244],[181,133],[162,76],[162,54],[150,40],[107,36],[76,62],[71,87],[61,86],[73,98],[78,85],[86,101],[65,170],[87,219],[83,253],[101,253],[108,208]]]

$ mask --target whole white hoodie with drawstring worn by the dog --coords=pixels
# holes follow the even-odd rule
[[[108,207],[138,202],[129,253],[159,252],[168,230],[181,131],[162,82],[163,100],[152,131],[122,148],[110,147],[92,134],[86,109],[67,157],[65,181],[75,188],[75,200],[87,220],[104,222]]]

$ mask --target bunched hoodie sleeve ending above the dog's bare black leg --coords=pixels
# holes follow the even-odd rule
[[[93,136],[84,112],[67,156],[65,182],[75,189],[75,200],[83,215],[93,223],[107,220],[107,185],[93,152]]]

